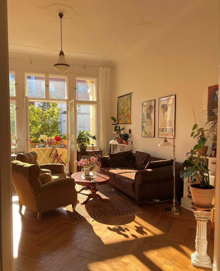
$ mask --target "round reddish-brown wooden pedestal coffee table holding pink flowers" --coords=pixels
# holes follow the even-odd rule
[[[87,203],[90,200],[90,198],[99,198],[101,201],[108,201],[106,198],[102,198],[100,195],[96,194],[96,192],[98,191],[96,186],[108,183],[110,177],[108,177],[107,175],[104,175],[98,171],[90,171],[90,172],[92,172],[94,174],[95,179],[89,179],[89,180],[85,179],[84,180],[82,178],[82,174],[83,174],[82,171],[73,173],[71,175],[71,177],[75,180],[75,182],[77,184],[85,186],[85,187],[81,188],[78,191],[78,193],[80,193],[83,190],[90,191],[88,198],[84,202],[82,202],[82,204]]]

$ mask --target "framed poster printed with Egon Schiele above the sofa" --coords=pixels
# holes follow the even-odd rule
[[[176,95],[159,99],[158,137],[175,137]],[[167,133],[170,133],[166,136]],[[172,133],[172,134],[171,134]]]

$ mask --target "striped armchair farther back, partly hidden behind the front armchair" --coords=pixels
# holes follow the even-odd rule
[[[44,164],[39,165],[37,162],[38,154],[36,151],[29,153],[18,153],[16,155],[17,161],[21,161],[28,164],[38,165],[40,167],[40,173],[50,173],[53,180],[66,178],[63,164]]]

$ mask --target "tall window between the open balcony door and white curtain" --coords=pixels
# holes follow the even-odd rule
[[[97,93],[96,79],[76,78],[77,97],[77,135],[79,131],[97,134]],[[96,140],[90,139],[90,144],[96,145]]]

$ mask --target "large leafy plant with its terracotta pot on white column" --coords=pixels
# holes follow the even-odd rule
[[[192,177],[190,192],[194,206],[195,208],[200,207],[205,209],[211,206],[215,187],[210,185],[210,170],[205,152],[207,138],[204,137],[204,131],[204,128],[198,128],[198,124],[194,124],[191,137],[197,139],[197,144],[190,153],[186,153],[186,155],[189,155],[189,158],[183,162],[180,177],[182,180]],[[196,156],[196,152],[201,149],[204,154]]]

